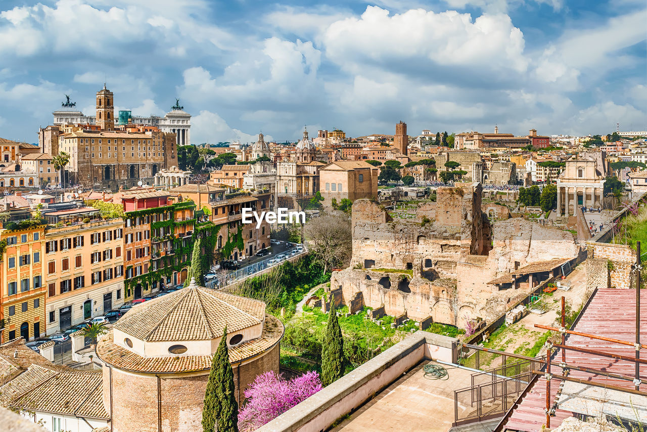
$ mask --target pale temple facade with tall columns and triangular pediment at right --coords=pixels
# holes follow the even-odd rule
[[[575,216],[578,207],[602,208],[606,165],[604,155],[583,153],[566,161],[557,179],[557,213]]]

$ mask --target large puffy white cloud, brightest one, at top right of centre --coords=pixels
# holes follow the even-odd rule
[[[400,71],[443,66],[521,73],[528,64],[523,34],[503,14],[472,21],[469,14],[455,11],[415,9],[389,16],[386,9],[368,6],[359,18],[331,24],[323,44],[327,58],[353,73],[370,65]]]

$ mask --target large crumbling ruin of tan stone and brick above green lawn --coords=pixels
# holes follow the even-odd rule
[[[464,326],[496,319],[530,289],[499,291],[490,280],[531,262],[578,255],[571,233],[560,229],[521,218],[491,229],[481,192],[478,183],[441,187],[437,202],[419,205],[414,220],[391,220],[376,203],[355,201],[351,267],[335,271],[331,286],[341,287],[344,304],[361,293],[380,313]]]

